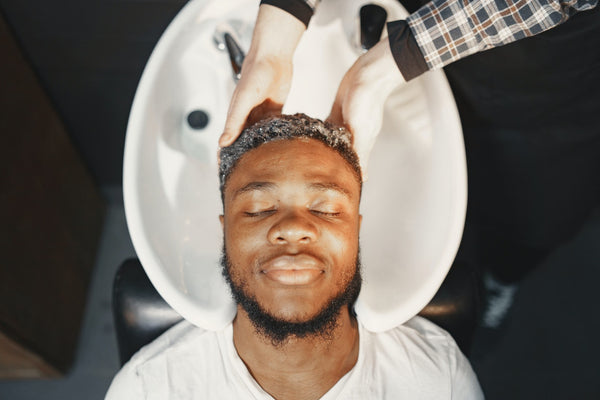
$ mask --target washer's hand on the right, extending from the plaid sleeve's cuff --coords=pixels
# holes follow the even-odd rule
[[[327,119],[350,130],[363,178],[381,129],[385,101],[403,82],[386,37],[360,56],[340,83]]]

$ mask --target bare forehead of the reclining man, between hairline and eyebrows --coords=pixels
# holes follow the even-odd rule
[[[321,182],[360,196],[353,168],[337,151],[316,139],[277,140],[248,151],[229,176],[225,197],[252,182]]]

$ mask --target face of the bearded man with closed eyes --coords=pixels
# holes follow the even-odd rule
[[[315,318],[356,278],[359,200],[352,168],[317,140],[249,151],[224,193],[232,285],[278,320]]]

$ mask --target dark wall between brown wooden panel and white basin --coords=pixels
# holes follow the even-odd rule
[[[160,35],[186,2],[0,0],[0,11],[100,186],[121,184],[137,83]]]

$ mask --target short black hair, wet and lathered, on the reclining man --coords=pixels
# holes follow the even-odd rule
[[[219,165],[221,199],[225,197],[225,186],[229,176],[244,154],[265,143],[297,138],[316,139],[335,150],[352,167],[362,187],[360,163],[358,155],[352,148],[352,136],[348,130],[305,114],[277,115],[247,127],[233,144],[221,149]]]

